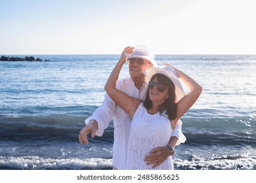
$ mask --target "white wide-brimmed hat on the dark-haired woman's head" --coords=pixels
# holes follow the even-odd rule
[[[184,97],[185,93],[181,86],[181,82],[179,81],[179,75],[173,70],[173,68],[169,66],[165,66],[163,68],[160,67],[150,67],[144,71],[145,80],[149,82],[153,75],[162,74],[167,76],[175,85],[175,102],[179,102],[179,100]]]

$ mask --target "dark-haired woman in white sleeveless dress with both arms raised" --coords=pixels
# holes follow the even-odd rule
[[[125,52],[129,54],[132,49],[127,47]],[[145,154],[152,148],[167,145],[173,127],[179,118],[194,105],[202,92],[202,86],[170,65],[164,69],[151,67],[144,71],[146,80],[149,82],[146,99],[141,101],[116,89],[116,81],[124,63],[123,59],[117,62],[106,82],[105,90],[116,105],[123,108],[132,119],[126,169],[152,169],[144,161]],[[190,89],[186,95],[175,74]],[[152,163],[159,163],[155,169],[173,169],[171,156],[163,162],[148,164]]]

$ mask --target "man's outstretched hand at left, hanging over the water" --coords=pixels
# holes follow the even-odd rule
[[[97,129],[98,129],[98,123],[95,120],[91,120],[85,127],[83,127],[80,130],[79,137],[78,137],[80,144],[83,144],[83,142],[85,142],[85,144],[88,145],[89,141],[88,141],[87,135],[91,133],[91,137],[94,138]]]

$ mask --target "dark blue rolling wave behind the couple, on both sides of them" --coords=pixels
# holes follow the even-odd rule
[[[85,125],[84,116],[49,115],[0,117],[1,141],[77,141],[80,129]],[[188,144],[256,146],[256,119],[254,116],[237,118],[182,118],[182,132]],[[114,126],[110,122],[104,138],[93,141],[112,143]]]

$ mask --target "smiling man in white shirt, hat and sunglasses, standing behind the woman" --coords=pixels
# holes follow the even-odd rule
[[[154,54],[146,48],[146,46],[126,47],[123,50],[120,59],[127,59],[129,63],[130,77],[117,81],[116,88],[138,99],[145,99],[148,84],[144,82],[143,72],[148,67],[156,67]],[[114,101],[106,94],[101,107],[97,108],[93,116],[85,120],[85,127],[79,133],[79,141],[81,144],[89,144],[87,135],[91,133],[91,137],[102,136],[111,120],[114,120],[114,146],[113,146],[113,169],[125,169],[125,161],[127,157],[127,144],[131,125],[129,115],[116,106]],[[181,133],[182,122],[179,120],[171,139],[167,146],[156,147],[145,154],[145,163],[157,167],[168,156],[174,154],[174,148],[177,144],[186,141],[186,137]]]

